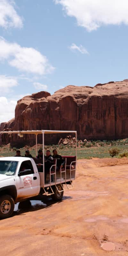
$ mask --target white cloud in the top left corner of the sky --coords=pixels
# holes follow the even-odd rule
[[[3,28],[22,28],[23,26],[22,19],[15,11],[12,1],[0,0],[0,26]]]

